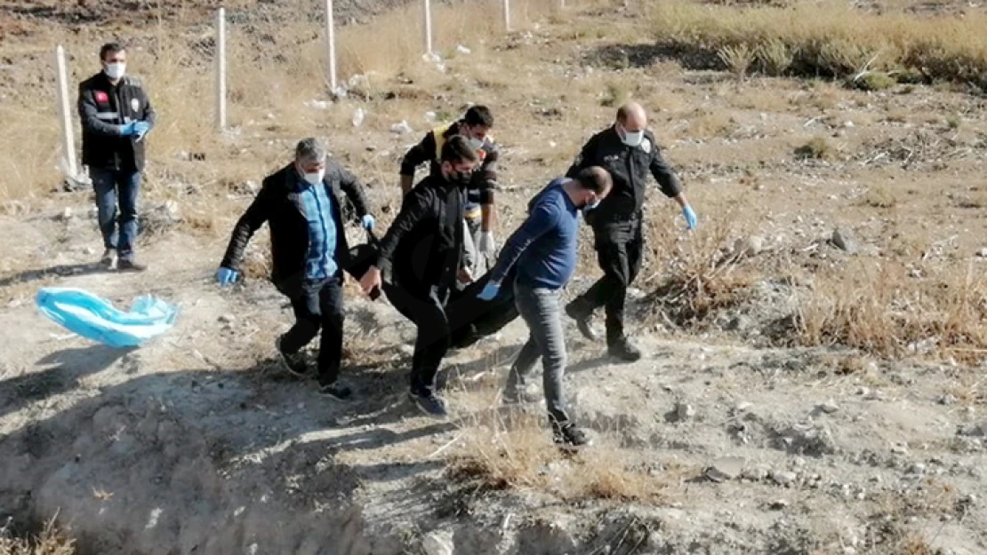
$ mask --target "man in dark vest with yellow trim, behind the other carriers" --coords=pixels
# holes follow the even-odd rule
[[[408,151],[401,163],[401,190],[407,195],[408,191],[412,190],[415,172],[419,166],[429,163],[430,174],[441,174],[439,154],[442,152],[442,145],[450,137],[462,135],[476,150],[480,166],[470,178],[464,207],[467,229],[479,254],[475,256],[476,262],[485,259],[493,261],[496,257],[496,243],[493,238],[495,219],[493,191],[496,188],[500,149],[490,135],[492,128],[493,113],[490,108],[482,105],[471,106],[462,119],[436,127],[426,133],[421,142]],[[469,246],[467,244],[467,248]],[[481,273],[477,271],[479,269],[476,266],[471,268],[474,276]]]

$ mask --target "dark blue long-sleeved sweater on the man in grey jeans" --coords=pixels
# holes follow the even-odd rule
[[[500,252],[493,281],[503,281],[517,264],[517,280],[528,287],[561,289],[569,283],[575,271],[579,211],[563,189],[568,180],[553,180],[531,202],[528,219]]]

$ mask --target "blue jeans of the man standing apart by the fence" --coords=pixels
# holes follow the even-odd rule
[[[140,173],[90,168],[89,176],[92,177],[93,188],[96,190],[103,245],[116,249],[123,260],[133,259],[133,246],[137,240]]]

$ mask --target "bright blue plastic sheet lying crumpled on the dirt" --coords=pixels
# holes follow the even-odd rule
[[[88,291],[47,287],[38,291],[38,310],[65,329],[110,347],[136,347],[175,325],[178,308],[151,296],[133,301],[129,312]]]

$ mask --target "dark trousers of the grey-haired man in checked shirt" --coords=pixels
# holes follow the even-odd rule
[[[295,325],[281,337],[281,349],[297,353],[308,345],[319,329],[319,382],[323,385],[340,378],[342,364],[342,274],[320,282],[306,283],[291,299]]]

